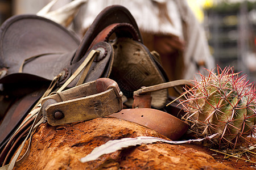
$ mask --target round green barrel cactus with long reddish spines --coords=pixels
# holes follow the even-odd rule
[[[235,74],[233,67],[208,72],[208,76],[199,73],[200,82],[195,80],[185,91],[183,118],[199,137],[217,133],[212,142],[220,148],[250,143],[246,137],[254,135],[256,123],[254,83],[246,75]]]

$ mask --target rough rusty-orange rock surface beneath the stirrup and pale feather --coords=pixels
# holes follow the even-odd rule
[[[28,158],[15,169],[233,169],[188,145],[154,143],[130,147],[97,160],[80,158],[112,139],[163,135],[117,118],[96,118],[60,126],[42,124],[32,138]]]

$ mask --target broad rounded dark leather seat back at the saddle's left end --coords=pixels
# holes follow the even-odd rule
[[[61,25],[36,15],[15,15],[1,25],[0,67],[52,80],[73,57],[80,40]],[[39,56],[39,57],[36,57]],[[4,79],[1,80],[1,82]]]

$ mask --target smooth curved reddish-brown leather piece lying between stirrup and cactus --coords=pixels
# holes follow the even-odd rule
[[[123,109],[110,117],[120,118],[145,126],[170,138],[179,139],[189,128],[189,125],[179,118],[163,111],[151,108]]]

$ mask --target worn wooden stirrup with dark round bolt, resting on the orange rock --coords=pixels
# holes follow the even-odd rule
[[[100,78],[45,97],[42,109],[52,126],[91,120],[121,111],[122,92],[114,80]]]

